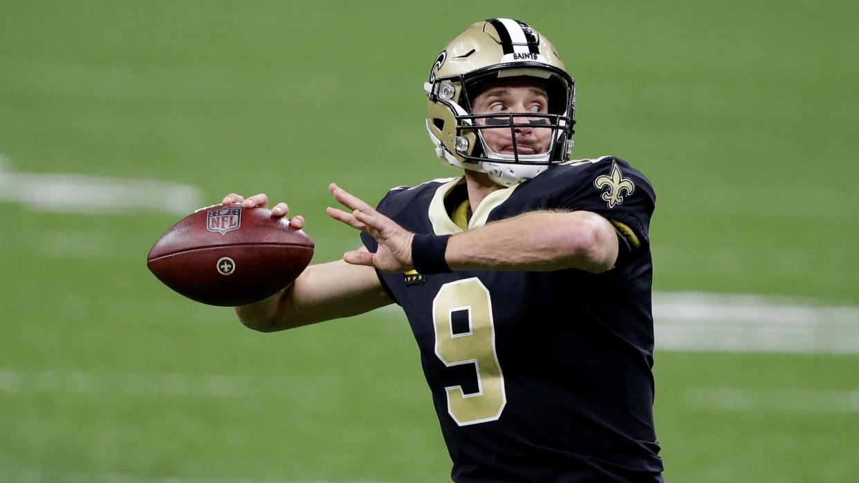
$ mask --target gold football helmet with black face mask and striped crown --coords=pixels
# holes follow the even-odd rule
[[[493,82],[525,78],[545,87],[546,113],[475,114],[472,102]],[[460,33],[436,57],[424,90],[426,127],[443,163],[485,172],[498,184],[512,186],[537,176],[552,164],[570,160],[575,121],[575,82],[548,39],[512,19],[478,21]],[[539,128],[534,125],[539,124]],[[509,129],[511,154],[493,151],[485,129]],[[545,152],[520,154],[517,129],[551,130]]]

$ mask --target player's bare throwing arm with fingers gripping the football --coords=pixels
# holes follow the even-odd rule
[[[247,208],[265,207],[268,197],[256,195],[245,200],[231,194],[223,202],[241,202]],[[289,208],[285,203],[277,203],[271,212],[272,216],[285,216]],[[304,220],[295,216],[289,224],[300,229]],[[235,313],[250,329],[274,332],[350,317],[391,303],[375,269],[338,260],[309,266],[289,287],[255,304],[235,307]]]

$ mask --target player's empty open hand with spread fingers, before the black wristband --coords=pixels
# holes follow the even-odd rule
[[[361,198],[350,195],[337,184],[328,185],[328,190],[340,204],[352,210],[347,213],[338,208],[326,208],[334,220],[344,222],[357,230],[368,232],[379,243],[375,253],[347,251],[343,255],[346,263],[367,265],[384,272],[405,272],[414,268],[411,262],[411,239],[415,234],[379,213]]]

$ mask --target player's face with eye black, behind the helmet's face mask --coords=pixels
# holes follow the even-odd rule
[[[509,125],[509,113],[517,115],[515,123],[548,124],[545,118],[529,118],[528,113],[548,112],[549,98],[543,83],[537,80],[511,80],[497,82],[484,89],[472,103],[474,114],[498,113],[498,118],[477,119],[478,124]],[[521,114],[521,115],[519,115]],[[502,116],[503,115],[503,116]],[[509,127],[481,130],[486,145],[498,154],[514,154],[513,134]],[[515,128],[515,141],[519,154],[545,154],[551,144],[551,129],[537,127]]]

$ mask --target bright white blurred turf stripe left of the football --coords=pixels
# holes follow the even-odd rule
[[[0,200],[21,202],[40,211],[127,213],[129,210],[189,214],[203,205],[190,184],[154,179],[107,178],[77,174],[11,172],[0,160]]]

